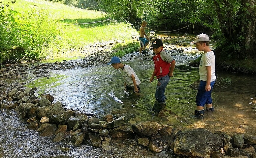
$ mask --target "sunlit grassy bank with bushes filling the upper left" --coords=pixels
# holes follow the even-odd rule
[[[8,3],[7,0],[3,2]],[[43,0],[19,0],[8,5],[3,16],[12,12],[15,22],[3,23],[0,42],[1,54],[9,54],[11,60],[63,56],[70,49],[95,42],[129,40],[137,34],[128,23],[113,20],[92,23],[108,19],[106,13],[100,11]]]

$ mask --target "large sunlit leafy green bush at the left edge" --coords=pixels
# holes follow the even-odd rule
[[[7,8],[7,10],[5,9]],[[1,47],[12,61],[40,59],[41,51],[47,47],[58,34],[54,20],[47,12],[31,9],[18,13],[1,7]],[[13,17],[16,17],[14,20]]]

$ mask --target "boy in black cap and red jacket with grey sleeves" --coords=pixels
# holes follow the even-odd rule
[[[155,53],[155,56],[153,57],[155,69],[149,82],[151,83],[156,76],[158,83],[156,87],[155,98],[161,106],[165,106],[165,88],[170,81],[170,77],[173,76],[175,60],[172,56],[163,50],[162,40],[155,39],[152,41],[152,45],[150,47],[153,47],[153,51]]]

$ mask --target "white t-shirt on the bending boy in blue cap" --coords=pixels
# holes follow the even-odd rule
[[[134,86],[132,78],[131,78],[132,75],[134,75],[137,85],[139,85],[141,83],[138,76],[136,75],[136,73],[133,71],[133,69],[129,65],[124,65],[123,70],[122,70],[122,68],[119,68],[119,69],[121,71],[122,77],[124,78],[124,82],[127,85]]]

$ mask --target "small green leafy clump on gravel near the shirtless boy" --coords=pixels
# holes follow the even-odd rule
[[[139,47],[138,42],[128,42],[125,44],[119,43],[112,49],[116,50],[114,53],[112,53],[112,56],[122,57],[125,54],[136,52]]]

